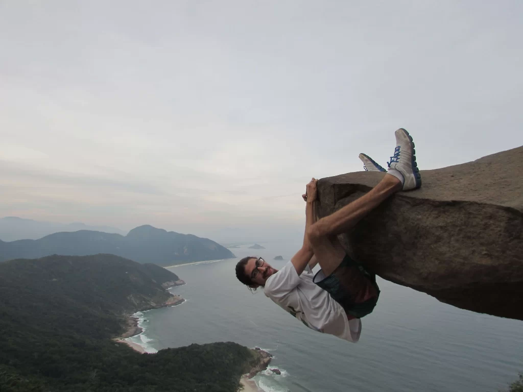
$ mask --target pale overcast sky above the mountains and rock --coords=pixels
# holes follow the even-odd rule
[[[523,2],[0,0],[0,217],[303,234],[311,179],[523,144]]]

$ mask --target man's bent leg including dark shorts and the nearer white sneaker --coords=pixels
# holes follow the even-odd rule
[[[333,237],[353,227],[393,193],[421,186],[414,153],[412,137],[404,129],[397,130],[389,173],[369,193],[320,219],[307,230],[314,255],[322,267],[314,276],[314,282],[343,307],[349,320],[370,314],[378,302],[380,289],[376,275],[346,255]]]

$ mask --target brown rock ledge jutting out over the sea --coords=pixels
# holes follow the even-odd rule
[[[421,189],[397,193],[341,236],[351,256],[441,302],[523,320],[523,146],[421,174]],[[383,175],[321,179],[319,217]]]

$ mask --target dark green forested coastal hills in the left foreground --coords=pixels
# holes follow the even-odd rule
[[[0,390],[235,391],[257,361],[241,345],[139,354],[111,340],[124,314],[161,306],[161,284],[177,279],[112,255],[0,263]]]

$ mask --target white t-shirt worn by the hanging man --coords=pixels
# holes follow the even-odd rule
[[[269,276],[264,292],[309,328],[356,343],[361,333],[360,319],[348,320],[342,306],[315,284],[313,278],[310,268],[298,275],[289,261]]]

